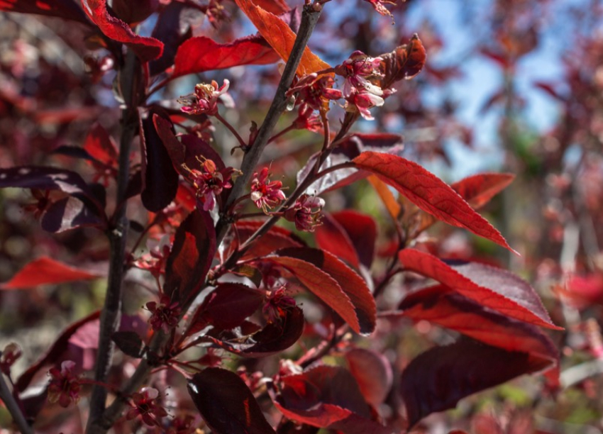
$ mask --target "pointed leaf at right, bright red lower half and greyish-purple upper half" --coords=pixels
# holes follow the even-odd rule
[[[446,284],[481,306],[519,321],[563,330],[551,323],[530,284],[511,272],[475,263],[451,267],[435,256],[413,249],[400,251],[398,258],[404,269]]]

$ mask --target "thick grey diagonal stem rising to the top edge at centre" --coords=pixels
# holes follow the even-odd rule
[[[243,194],[245,186],[251,179],[253,169],[255,169],[255,166],[258,165],[260,156],[262,155],[262,152],[264,152],[264,148],[266,148],[268,140],[270,140],[272,130],[275,129],[277,121],[285,109],[287,109],[287,97],[285,96],[285,93],[289,87],[291,87],[295,77],[295,72],[297,71],[299,62],[302,60],[302,55],[304,54],[304,50],[306,49],[310,35],[314,31],[314,27],[316,27],[316,23],[318,23],[320,16],[320,9],[316,11],[312,5],[304,6],[302,23],[299,25],[299,31],[297,32],[295,43],[291,53],[289,54],[287,65],[284,67],[275,98],[272,100],[272,104],[270,104],[270,109],[268,109],[268,113],[266,114],[260,130],[258,131],[255,141],[250,143],[251,148],[243,157],[243,162],[240,165],[240,170],[243,172],[243,174],[237,178],[235,184],[233,185],[231,194],[228,196],[228,201],[226,202],[226,210],[228,210],[236,199]],[[218,240],[218,244],[221,242],[224,235],[226,235],[226,230],[228,230],[229,225],[230,223],[228,222],[228,218],[221,218],[220,221],[218,221],[216,226],[216,238]]]

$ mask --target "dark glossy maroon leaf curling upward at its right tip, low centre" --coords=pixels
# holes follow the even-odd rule
[[[201,342],[211,342],[241,357],[266,357],[294,345],[304,332],[304,312],[299,307],[286,311],[279,323],[267,323],[261,330],[231,340],[204,336]]]

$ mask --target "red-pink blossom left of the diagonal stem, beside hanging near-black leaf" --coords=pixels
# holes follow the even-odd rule
[[[216,205],[216,195],[220,194],[223,189],[233,187],[231,178],[236,169],[233,167],[225,167],[218,170],[216,163],[204,157],[197,157],[197,161],[201,163],[201,169],[190,169],[184,165],[190,174],[190,181],[197,190],[197,198],[201,201],[201,206],[204,211],[211,211]]]

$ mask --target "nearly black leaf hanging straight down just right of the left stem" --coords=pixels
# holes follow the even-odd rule
[[[140,153],[142,155],[141,174],[143,191],[140,198],[149,211],[157,212],[168,206],[176,197],[178,172],[172,165],[170,154],[155,130],[153,117],[167,119],[167,115],[151,110],[148,116],[140,119]]]

